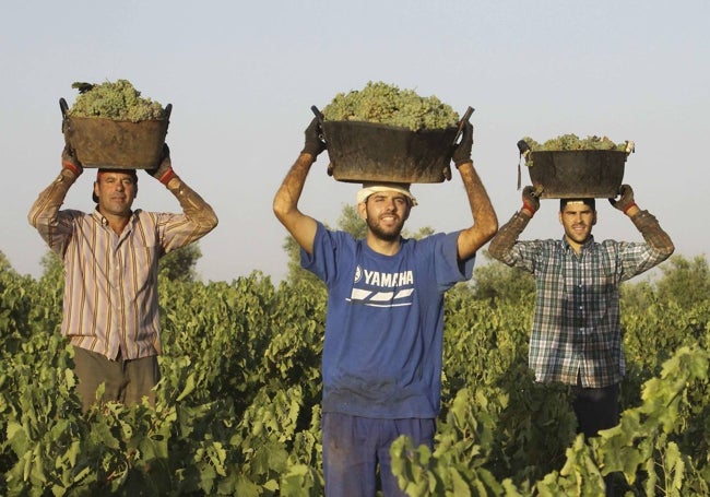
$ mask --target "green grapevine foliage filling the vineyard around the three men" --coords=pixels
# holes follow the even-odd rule
[[[35,281],[0,253],[0,495],[323,494],[322,284],[162,274],[156,406],[108,403],[84,415],[58,333],[56,262],[48,257]],[[676,271],[684,265],[664,279]],[[622,421],[589,443],[576,435],[568,389],[533,381],[533,308],[520,288],[493,306],[477,283],[448,293],[434,451],[406,437],[391,448],[406,493],[599,496],[613,477],[622,495],[708,495],[710,303],[684,307],[639,285],[641,297],[624,303]]]

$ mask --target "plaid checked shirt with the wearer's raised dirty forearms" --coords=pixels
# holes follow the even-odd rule
[[[626,364],[619,321],[619,283],[673,252],[670,237],[641,211],[632,218],[646,242],[590,238],[578,253],[560,240],[517,241],[528,224],[516,214],[490,245],[496,259],[531,272],[536,305],[530,367],[536,381],[602,388],[617,383]]]

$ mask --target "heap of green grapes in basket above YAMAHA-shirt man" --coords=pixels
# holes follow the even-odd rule
[[[334,121],[365,121],[399,126],[412,131],[457,126],[459,115],[436,96],[422,97],[412,90],[369,81],[363,90],[339,93],[323,108]]]

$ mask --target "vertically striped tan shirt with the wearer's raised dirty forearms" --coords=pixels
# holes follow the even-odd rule
[[[29,223],[64,265],[61,330],[74,346],[116,358],[161,353],[158,259],[212,230],[212,208],[181,180],[182,213],[135,210],[119,235],[95,210],[59,210],[74,178],[62,171],[29,211]]]

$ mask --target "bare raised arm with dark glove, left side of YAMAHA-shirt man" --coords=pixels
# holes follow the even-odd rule
[[[306,143],[295,164],[291,166],[286,177],[274,197],[274,214],[284,227],[296,239],[296,242],[308,253],[313,251],[313,239],[318,224],[315,218],[304,214],[298,209],[298,200],[306,184],[306,177],[318,154],[326,150],[320,139],[320,125],[317,118],[306,129]]]

